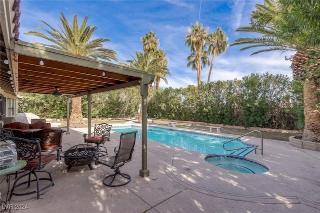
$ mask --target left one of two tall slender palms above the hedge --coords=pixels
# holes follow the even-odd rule
[[[199,86],[201,82],[201,53],[206,43],[208,27],[202,27],[202,24],[197,21],[191,26],[192,28],[188,27],[185,44],[190,47],[191,53],[195,53],[195,69]]]

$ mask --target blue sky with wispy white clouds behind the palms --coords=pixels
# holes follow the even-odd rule
[[[248,25],[256,3],[263,3],[263,0],[21,0],[19,39],[47,43],[24,33],[39,31],[36,26],[48,29],[39,20],[57,29],[57,24],[61,25],[60,12],[70,22],[76,14],[79,25],[87,15],[87,24],[98,27],[92,38],[111,39],[104,47],[115,50],[119,62],[125,62],[132,59],[134,51],[143,52],[140,38],[153,31],[159,38],[159,49],[167,54],[171,72],[171,76],[166,77],[168,84],[161,80],[160,87],[187,87],[197,84],[196,71],[186,67],[186,57],[190,55],[185,45],[188,27],[199,21],[209,28],[208,32],[214,32],[220,26],[229,44],[239,37],[257,36],[235,32],[237,27]],[[251,73],[265,72],[291,77],[290,61],[284,57],[291,56],[292,52],[250,56],[253,49],[240,51],[240,48],[228,47],[223,55],[215,57],[211,81],[241,79]],[[207,81],[208,71],[209,67],[202,70],[202,81]]]

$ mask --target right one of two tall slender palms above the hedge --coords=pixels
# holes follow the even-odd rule
[[[212,71],[213,61],[214,57],[216,55],[223,54],[228,47],[228,37],[226,36],[225,32],[221,30],[221,28],[218,26],[216,29],[216,32],[212,32],[208,35],[208,51],[212,54],[211,63],[210,63],[210,69],[208,74],[208,81],[210,82],[210,75]]]

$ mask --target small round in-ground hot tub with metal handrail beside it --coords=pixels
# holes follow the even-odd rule
[[[204,160],[216,167],[233,172],[260,174],[269,171],[266,166],[240,156],[213,154],[207,155]]]

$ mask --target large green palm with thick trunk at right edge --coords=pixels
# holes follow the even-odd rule
[[[318,2],[318,1],[317,1]],[[320,142],[319,91],[320,79],[320,7],[315,1],[264,0],[256,4],[250,26],[236,31],[255,32],[261,37],[238,38],[231,46],[247,45],[241,50],[264,47],[254,51],[296,51],[291,58],[293,76],[303,81],[303,141]],[[305,12],[307,10],[307,12]]]

